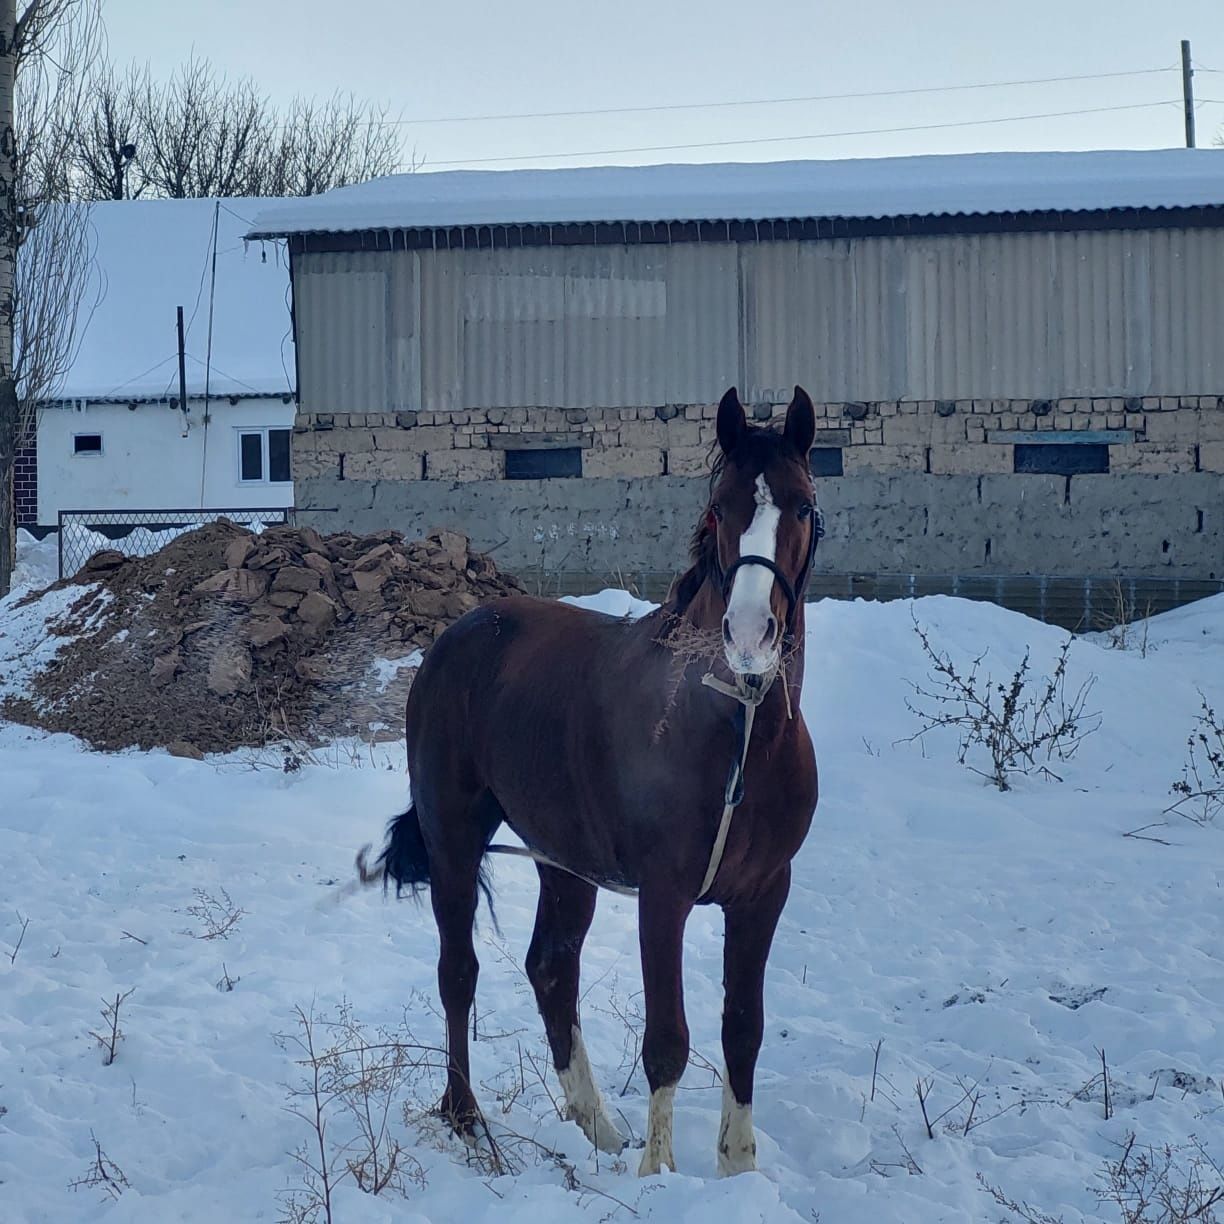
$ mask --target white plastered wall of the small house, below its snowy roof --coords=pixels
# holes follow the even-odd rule
[[[38,521],[59,510],[255,509],[291,507],[291,483],[239,480],[240,428],[293,428],[280,398],[213,400],[209,424],[192,401],[190,427],[165,404],[48,408],[38,421]],[[73,435],[100,433],[102,454],[73,454]]]

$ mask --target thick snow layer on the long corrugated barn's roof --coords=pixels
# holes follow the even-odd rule
[[[957,153],[838,162],[400,174],[259,211],[251,236],[594,222],[891,218],[1224,204],[1224,153]]]

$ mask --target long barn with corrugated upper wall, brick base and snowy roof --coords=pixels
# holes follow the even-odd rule
[[[405,175],[256,233],[289,244],[319,524],[661,580],[717,398],[767,419],[799,382],[830,590],[1082,619],[1084,578],[1224,575],[1224,153]]]

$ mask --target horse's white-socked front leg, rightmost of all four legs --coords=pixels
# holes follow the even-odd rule
[[[756,1168],[753,1077],[765,1032],[765,962],[789,891],[787,864],[752,901],[725,909],[722,1055],[727,1073],[718,1127],[720,1177]]]

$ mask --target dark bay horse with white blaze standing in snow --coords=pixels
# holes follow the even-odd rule
[[[568,1114],[611,1153],[624,1140],[583,1044],[579,958],[599,886],[636,894],[650,1084],[643,1176],[676,1170],[672,1106],[689,1056],[684,924],[695,905],[722,907],[717,1168],[756,1166],[765,962],[816,805],[799,709],[803,596],[821,534],[814,435],[800,387],[781,428],[749,425],[732,388],[718,405],[692,564],[659,611],[616,619],[515,596],[469,612],[426,654],[408,699],[411,807],[392,821],[377,865],[362,852],[359,868],[365,883],[394,880],[397,894],[430,885],[448,1051],[439,1109],[469,1138],[482,1124],[468,1051],[472,923],[483,857],[507,851],[536,859],[526,971]],[[503,823],[525,851],[491,845]]]

